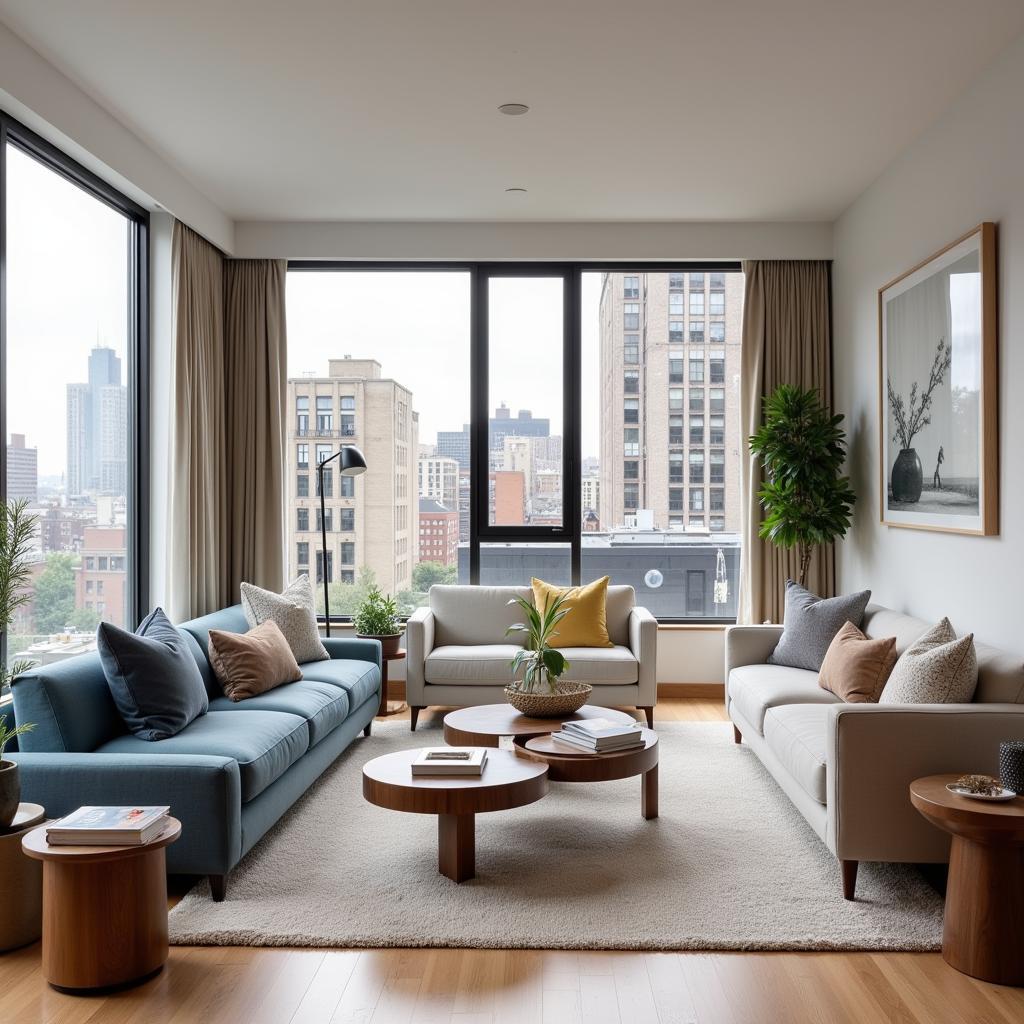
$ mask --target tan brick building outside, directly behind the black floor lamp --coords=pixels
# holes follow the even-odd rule
[[[412,588],[418,561],[419,417],[413,393],[381,377],[376,359],[331,359],[327,377],[288,382],[289,567],[323,583],[317,463],[344,444],[358,445],[368,471],[325,471],[327,578],[354,583],[362,566],[381,590]]]

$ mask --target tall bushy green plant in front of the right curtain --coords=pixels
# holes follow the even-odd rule
[[[818,392],[783,384],[764,400],[764,422],[750,439],[761,460],[764,484],[758,492],[763,541],[800,552],[800,585],[815,547],[844,537],[856,495],[843,475],[846,432]]]

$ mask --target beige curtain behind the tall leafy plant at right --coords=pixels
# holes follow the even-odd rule
[[[786,579],[799,577],[799,555],[758,537],[759,466],[745,440],[761,424],[761,402],[780,384],[817,388],[831,403],[831,311],[829,264],[823,260],[749,260],[743,263],[740,459],[743,553],[738,622],[781,623]],[[808,589],[836,592],[836,553],[818,549],[807,573]]]

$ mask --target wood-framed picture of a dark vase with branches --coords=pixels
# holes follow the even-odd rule
[[[999,531],[996,225],[879,289],[880,518]]]

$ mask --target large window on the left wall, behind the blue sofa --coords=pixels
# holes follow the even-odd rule
[[[34,521],[5,654],[133,627],[144,585],[145,212],[0,116],[3,500]]]

